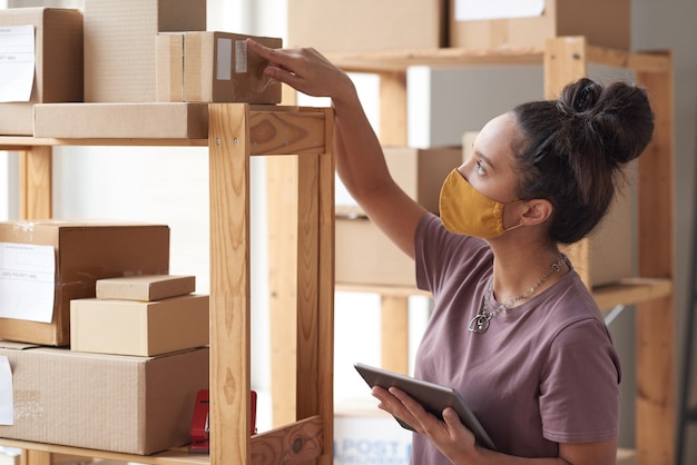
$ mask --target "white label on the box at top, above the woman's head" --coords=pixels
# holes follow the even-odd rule
[[[544,0],[455,0],[455,20],[475,21],[539,17]]]

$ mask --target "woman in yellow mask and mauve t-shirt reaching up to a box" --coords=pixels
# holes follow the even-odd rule
[[[452,409],[440,421],[376,387],[380,407],[418,432],[412,464],[613,464],[620,364],[558,246],[602,219],[621,167],[650,141],[646,92],[582,79],[492,119],[443,184],[439,218],[390,177],[346,73],[312,49],[248,46],[271,78],[331,97],[343,184],[433,294],[414,375],[458,388],[497,445],[480,447]]]

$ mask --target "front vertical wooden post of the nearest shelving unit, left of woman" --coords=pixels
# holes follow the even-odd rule
[[[210,464],[249,464],[249,108],[208,108]]]

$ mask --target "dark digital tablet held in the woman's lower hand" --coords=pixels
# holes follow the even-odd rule
[[[423,408],[440,419],[443,419],[442,412],[446,407],[452,407],[460,416],[460,422],[462,422],[462,424],[472,432],[477,442],[481,446],[491,451],[497,449],[481,423],[479,423],[479,419],[477,419],[472,410],[470,410],[470,408],[465,405],[458,390],[374,366],[364,364],[355,364],[354,366],[369,386],[381,386],[385,389],[392,386],[399,387],[418,400]],[[414,429],[401,419],[395,419],[400,423],[400,425],[402,425],[402,427],[412,431]]]

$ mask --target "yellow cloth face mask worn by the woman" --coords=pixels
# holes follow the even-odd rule
[[[522,226],[503,227],[503,207],[520,201],[503,204],[490,199],[477,191],[455,168],[443,182],[439,208],[441,221],[449,231],[492,239]]]

